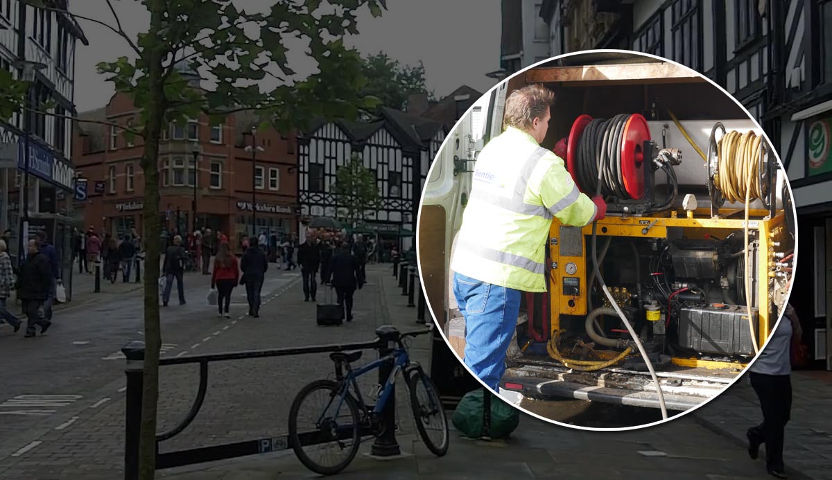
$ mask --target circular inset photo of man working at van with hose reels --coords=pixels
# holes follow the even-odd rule
[[[480,383],[558,424],[631,429],[714,399],[774,338],[795,218],[780,159],[721,87],[584,51],[510,76],[454,125],[418,267]]]

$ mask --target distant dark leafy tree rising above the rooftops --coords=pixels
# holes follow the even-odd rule
[[[401,65],[379,51],[364,57],[361,71],[367,77],[367,85],[361,93],[378,98],[379,105],[404,110],[412,93],[424,93],[428,100],[435,100],[433,91],[428,92],[425,86],[422,61],[417,66]]]

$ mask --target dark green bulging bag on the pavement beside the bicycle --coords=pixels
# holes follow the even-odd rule
[[[483,432],[483,394],[491,397],[491,428]],[[520,424],[520,411],[486,389],[465,394],[453,411],[453,426],[468,438],[507,438]]]

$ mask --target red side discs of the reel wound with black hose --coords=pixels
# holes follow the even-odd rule
[[[567,170],[572,175],[572,179],[576,180],[576,155],[578,144],[581,140],[583,130],[587,128],[589,122],[593,119],[590,115],[581,115],[577,117],[572,124],[572,130],[569,131],[567,141]],[[636,200],[640,200],[644,196],[644,152],[642,151],[644,142],[650,139],[650,129],[647,126],[647,120],[641,114],[632,114],[627,119],[624,126],[624,135],[621,144],[621,158],[622,158],[622,176],[624,178],[624,188],[630,196]],[[583,192],[589,196],[595,195],[595,192]]]

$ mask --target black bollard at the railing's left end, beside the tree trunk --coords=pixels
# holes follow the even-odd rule
[[[124,423],[124,479],[139,478],[139,433],[141,432],[141,392],[144,389],[145,342],[133,340],[121,349],[127,358]]]

